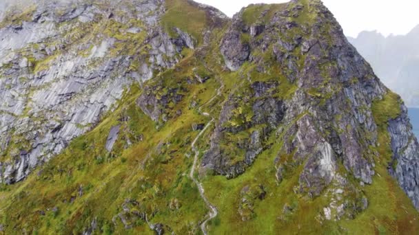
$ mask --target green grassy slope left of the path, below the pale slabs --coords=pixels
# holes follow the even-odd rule
[[[192,59],[186,58],[185,63],[187,60]],[[185,73],[189,73],[191,67],[183,63],[179,67],[186,67],[187,71],[181,69],[178,74],[170,71],[167,73],[170,76],[163,74],[157,80],[170,78],[173,84],[185,82]],[[157,212],[152,223],[165,223],[176,232],[196,227],[207,208],[187,177],[192,164],[187,154],[191,154],[190,142],[196,135],[191,131],[191,124],[208,120],[198,115],[196,109],[187,107],[192,99],[209,100],[215,90],[212,87],[216,87],[215,80],[208,81],[205,86],[187,87],[187,97],[174,107],[181,109],[183,115],[170,120],[159,131],[135,104],[141,89],[131,87],[116,111],[105,117],[93,131],[74,139],[69,148],[45,164],[39,174],[34,173],[21,183],[2,188],[0,223],[8,226],[8,231],[14,224],[27,231],[35,228],[41,234],[81,231],[94,215],[98,216],[99,226],[110,225],[112,216],[121,212],[125,199],[135,199],[143,204],[149,218],[152,218],[152,212]],[[130,120],[127,123],[119,121],[122,116]],[[143,134],[144,141],[124,149],[125,136],[120,135],[113,152],[106,153],[105,140],[111,126],[116,124],[121,124],[125,133],[127,129],[124,128],[128,128],[134,135]],[[166,144],[161,151],[156,150],[159,143]],[[155,154],[145,161],[149,153]],[[82,197],[77,196],[79,186],[83,186]],[[72,197],[76,198],[74,203],[70,203]],[[180,202],[180,210],[167,207],[172,199]],[[59,212],[51,212],[54,207],[59,208]],[[45,216],[40,214],[41,210],[46,212]],[[121,230],[122,225],[118,224],[110,227]],[[140,223],[131,232],[150,231],[147,225]]]

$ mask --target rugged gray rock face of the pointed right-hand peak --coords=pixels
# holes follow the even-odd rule
[[[303,11],[316,15],[309,26],[294,20]],[[255,17],[261,19],[264,14]],[[255,82],[250,85],[251,95],[230,94],[218,117],[203,166],[227,178],[236,177],[267,148],[267,136],[276,130],[283,142],[275,161],[278,183],[287,169],[303,164],[296,192],[317,197],[331,185],[347,188],[356,194],[355,201],[338,205],[336,199],[327,208],[330,216],[351,218],[365,210],[368,203],[359,185],[373,183],[374,156],[378,157],[374,149],[380,147],[371,106],[389,90],[349,44],[334,16],[320,1],[309,1],[308,5],[291,1],[265,23],[246,25],[242,15],[243,11],[234,16],[220,45],[225,66],[232,71],[247,71],[241,67],[247,66],[248,60],[267,78],[272,76],[269,70],[278,66],[286,80],[296,85],[296,91],[285,99],[269,99],[269,92],[280,89],[281,84]],[[265,57],[260,58],[263,53]],[[275,63],[267,61],[269,56]],[[253,79],[251,72],[247,78]],[[252,112],[245,113],[239,107]],[[246,133],[258,124],[267,127]],[[247,137],[232,146],[232,137],[226,135],[238,133]],[[389,133],[397,163],[394,170],[389,170],[419,208],[418,143],[404,106],[400,117],[389,120]],[[231,152],[232,148],[236,151]],[[340,165],[360,183],[345,180],[338,171]]]

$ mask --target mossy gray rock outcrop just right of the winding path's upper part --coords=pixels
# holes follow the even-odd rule
[[[274,131],[284,116],[285,106],[282,100],[267,98],[266,96],[269,96],[269,93],[264,93],[263,96],[260,94],[260,91],[267,91],[269,87],[275,87],[276,85],[278,84],[260,82],[255,82],[252,85],[254,88],[252,93],[254,103],[250,107],[245,107],[245,109],[251,109],[254,113],[251,119],[246,117],[245,113],[234,117],[235,109],[241,109],[242,107],[238,104],[236,97],[229,98],[229,102],[226,102],[218,117],[218,123],[211,137],[211,148],[204,155],[203,166],[211,168],[221,175],[226,175],[228,178],[233,178],[241,175],[245,172],[245,168],[252,165],[256,157],[265,149],[262,140]],[[245,122],[232,125],[231,121],[234,119],[245,120]],[[232,143],[237,144],[238,149],[245,152],[243,160],[232,164],[234,153],[226,152],[227,148],[221,144],[225,136],[230,133],[241,133],[261,124],[267,126],[258,128],[252,133],[247,133],[249,137],[245,142]]]

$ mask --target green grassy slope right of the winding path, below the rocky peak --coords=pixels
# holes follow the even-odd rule
[[[274,5],[274,7],[281,6]],[[265,19],[259,19],[257,14],[267,9],[269,9],[267,5],[252,5],[243,12],[243,20],[247,25],[263,22]],[[302,15],[298,18],[298,23],[309,21],[310,17]],[[249,66],[244,65],[235,73],[233,79],[227,77],[226,83],[237,87],[241,84],[240,74],[248,74],[247,69]],[[278,74],[278,71],[274,74]],[[251,76],[252,80],[258,80],[257,74]],[[294,91],[293,87],[283,91],[287,90]],[[282,98],[287,96],[283,95]],[[382,159],[376,159],[380,164],[377,164],[375,169],[377,174],[374,183],[363,188],[369,199],[369,207],[358,214],[356,219],[320,223],[316,217],[323,212],[323,207],[328,203],[327,198],[322,196],[311,200],[294,194],[294,186],[298,185],[299,172],[302,170],[300,168],[294,169],[292,175],[287,175],[278,185],[274,159],[280,154],[282,142],[281,139],[272,136],[269,143],[273,144],[273,147],[262,153],[245,174],[230,180],[221,176],[203,177],[206,193],[219,210],[217,218],[211,223],[210,232],[212,234],[231,234],[233,231],[234,234],[414,234],[419,229],[419,214],[396,180],[387,172],[391,160],[387,120],[395,118],[400,113],[398,107],[400,107],[398,98],[393,93],[389,93],[384,100],[377,101],[372,107],[378,124],[381,146],[378,152]],[[287,126],[283,127],[286,130]],[[254,202],[256,216],[250,221],[242,221],[238,213],[241,190],[245,186],[254,185],[263,185],[267,196],[262,201],[256,199]],[[295,208],[292,214],[283,219],[281,216],[285,204]]]

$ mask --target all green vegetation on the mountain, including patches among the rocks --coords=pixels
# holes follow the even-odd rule
[[[307,1],[301,2],[305,4],[305,13],[296,21],[310,22],[315,13],[308,9]],[[246,24],[267,23],[274,12],[284,6],[251,5],[244,10],[243,20]],[[173,27],[179,27],[203,45],[202,32],[208,26],[206,12],[185,0],[166,1],[166,8],[162,19],[165,30],[174,34]],[[266,14],[262,17],[263,12]],[[89,27],[94,30],[84,32]],[[71,28],[66,38],[74,43],[85,43],[85,49],[79,52],[81,56],[88,56],[93,45],[100,43],[91,37],[97,32],[115,38],[110,56],[134,56],[130,69],[139,70],[143,61],[139,58],[149,49],[143,43],[146,33],[125,32],[129,27],[141,28],[143,23],[101,19]],[[245,63],[238,71],[226,71],[218,45],[226,28],[214,29],[209,45],[197,51],[184,49],[181,61],[172,69],[160,71],[152,80],[127,88],[115,110],[107,113],[98,126],[74,139],[63,153],[39,166],[28,179],[11,186],[0,185],[0,224],[4,230],[11,234],[79,234],[95,221],[99,228],[97,234],[154,234],[141,217],[145,214],[150,223],[170,227],[167,233],[200,234],[199,225],[208,208],[188,177],[194,160],[191,144],[198,135],[198,131],[192,131],[192,124],[207,124],[212,117],[219,117],[225,104],[231,104],[231,115],[223,127],[234,131],[224,131],[220,144],[223,153],[230,157],[229,164],[236,164],[243,161],[243,146],[252,133],[269,129],[267,124],[250,124],[255,115],[252,104],[267,98],[290,100],[298,89],[297,84],[287,79],[292,71],[274,58],[272,46],[264,52],[255,49],[252,63]],[[283,36],[293,38],[300,33],[290,30],[289,35]],[[243,34],[241,40],[249,43],[253,39]],[[299,49],[291,52],[289,59],[302,69],[305,56]],[[48,69],[60,53],[39,61],[31,58],[34,72]],[[327,70],[336,64],[324,66],[320,69]],[[342,87],[334,85],[336,91],[326,92],[331,78],[327,73],[321,76],[323,83],[305,92],[324,104]],[[202,82],[197,77],[208,79]],[[256,82],[269,88],[258,97],[253,88]],[[352,84],[356,82],[358,78],[351,80]],[[143,96],[157,100],[156,107],[153,104],[146,107],[161,110],[156,122],[137,104]],[[346,216],[340,221],[326,221],[323,208],[331,201],[329,190],[336,190],[333,183],[319,197],[311,198],[300,192],[300,173],[305,162],[294,160],[296,152],[286,153],[283,146],[292,139],[285,138],[287,131],[292,130],[298,120],[311,115],[306,111],[289,123],[278,124],[280,131],[264,133],[263,152],[243,175],[226,179],[213,175],[211,170],[196,170],[205,195],[219,212],[208,223],[210,234],[415,234],[419,231],[418,212],[387,172],[390,163],[391,166],[396,164],[391,161],[388,121],[400,115],[400,98],[389,91],[382,100],[376,100],[371,109],[378,125],[380,144],[371,146],[371,152],[379,155],[374,159],[377,163],[374,183],[360,186],[341,162],[337,170],[349,181],[343,200],[356,207],[359,199],[366,196],[369,203],[366,210],[354,212],[354,218]],[[24,115],[27,114],[25,110]],[[343,117],[340,114],[334,118]],[[105,143],[110,129],[116,125],[121,131],[108,153]],[[212,128],[214,126],[196,143],[201,159],[210,148]],[[347,130],[339,131],[351,128],[348,124]],[[328,130],[323,132],[329,134]],[[11,140],[13,143],[3,157],[29,148],[20,135]],[[280,180],[276,177],[279,167],[284,168]]]

